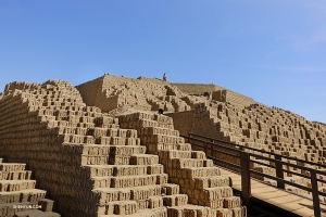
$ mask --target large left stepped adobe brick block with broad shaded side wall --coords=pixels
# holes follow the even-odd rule
[[[68,82],[13,82],[0,103],[0,153],[28,164],[64,216],[216,216],[189,205],[137,131],[85,106]]]

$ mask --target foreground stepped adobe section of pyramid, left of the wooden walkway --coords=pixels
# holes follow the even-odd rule
[[[229,179],[184,143],[171,117],[137,112],[114,118],[87,106],[62,80],[9,84],[0,103],[1,156],[28,165],[63,216],[246,216]],[[161,157],[120,122],[138,122]],[[184,184],[171,181],[176,178]]]

